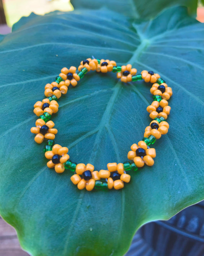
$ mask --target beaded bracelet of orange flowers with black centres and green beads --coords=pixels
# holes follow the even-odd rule
[[[144,138],[137,144],[132,144],[131,151],[127,154],[130,161],[118,164],[116,162],[108,163],[107,170],[100,171],[95,171],[92,164],[77,164],[69,159],[68,148],[54,143],[57,129],[53,128],[54,122],[50,120],[52,114],[58,111],[57,100],[62,94],[67,94],[69,85],[75,87],[78,81],[91,70],[102,73],[117,72],[117,78],[124,83],[144,79],[145,82],[153,84],[150,89],[153,94],[153,102],[147,107],[147,112],[150,113],[149,116],[153,121],[145,128]],[[39,119],[36,120],[36,127],[31,128],[31,133],[36,134],[34,140],[37,143],[42,143],[45,139],[47,141],[44,148],[45,157],[49,159],[47,167],[54,168],[57,173],[62,173],[65,169],[74,172],[71,181],[80,190],[84,188],[88,191],[94,188],[122,189],[124,183],[128,183],[131,179],[128,173],[137,171],[144,164],[147,166],[154,164],[153,158],[155,158],[156,152],[149,146],[168,132],[169,125],[166,119],[171,108],[168,106],[167,100],[171,97],[172,90],[160,75],[152,71],[144,70],[138,75],[136,73],[137,69],[132,68],[131,64],[117,66],[115,61],[108,59],[88,58],[81,61],[78,71],[73,66],[69,69],[64,67],[54,82],[46,84],[44,94],[47,98],[34,104],[34,113]]]

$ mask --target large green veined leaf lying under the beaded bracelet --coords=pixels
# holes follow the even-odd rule
[[[87,18],[88,17],[88,18]],[[112,11],[54,12],[22,18],[0,42],[0,214],[33,256],[122,255],[144,223],[168,219],[203,199],[203,26],[176,7],[150,22]],[[46,167],[30,128],[33,104],[64,66],[86,57],[158,72],[173,88],[169,133],[118,191],[79,191],[69,172]],[[150,86],[88,73],[60,98],[56,142],[96,169],[126,161],[150,118]]]

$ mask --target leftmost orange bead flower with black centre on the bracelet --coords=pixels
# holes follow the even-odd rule
[[[36,121],[36,127],[31,128],[31,133],[35,133],[36,136],[34,140],[41,144],[42,141],[44,141],[44,138],[46,139],[54,139],[55,134],[57,134],[57,129],[53,128],[54,123],[52,121],[48,121],[45,123],[45,121],[41,121],[42,119],[38,119]]]

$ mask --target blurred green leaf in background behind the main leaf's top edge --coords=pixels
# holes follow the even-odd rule
[[[100,9],[108,8],[132,18],[152,18],[166,7],[184,5],[190,13],[196,14],[197,0],[72,0],[76,9]]]

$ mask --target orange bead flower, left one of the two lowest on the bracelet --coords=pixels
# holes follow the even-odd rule
[[[63,148],[59,149],[59,152],[65,152]],[[85,175],[85,176],[84,176]],[[87,180],[85,179],[87,178]],[[99,180],[98,171],[94,171],[94,166],[92,164],[77,164],[76,174],[72,175],[70,178],[72,183],[77,185],[78,189],[85,189],[91,191],[95,186],[95,181]]]

